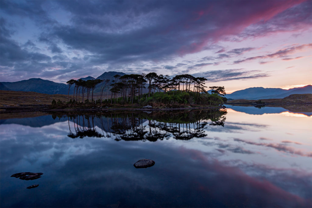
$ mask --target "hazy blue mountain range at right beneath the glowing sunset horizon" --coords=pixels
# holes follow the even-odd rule
[[[259,100],[259,99],[271,99],[271,98],[284,98],[292,94],[306,94],[312,93],[312,85],[305,87],[296,87],[289,90],[281,88],[263,88],[263,87],[250,87],[245,90],[238,90],[227,94],[229,99],[247,99],[247,100]]]

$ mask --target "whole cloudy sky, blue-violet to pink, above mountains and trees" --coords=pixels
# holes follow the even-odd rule
[[[227,93],[312,83],[312,1],[0,1],[0,81],[104,72],[207,78]]]

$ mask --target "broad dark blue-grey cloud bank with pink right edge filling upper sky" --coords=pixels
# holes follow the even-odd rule
[[[0,5],[6,18],[29,18],[35,22],[42,32],[39,41],[45,42],[52,53],[78,50],[87,53],[84,67],[105,64],[104,69],[142,61],[168,61],[211,50],[218,41],[229,37],[255,37],[272,32],[268,25],[274,25],[276,31],[287,28],[294,31],[311,22],[309,4],[300,1],[283,1],[283,4],[278,1],[1,1]],[[52,11],[66,17],[56,18],[59,14]],[[16,40],[10,39],[6,27],[1,26],[1,33],[7,38],[1,39],[2,67],[22,71],[19,67],[24,67],[26,60],[34,61],[37,57],[29,66],[39,63],[34,67],[38,75],[46,70],[42,62],[57,67],[55,59],[49,60],[47,54],[44,57],[21,49]],[[239,55],[248,50],[251,47],[228,53],[221,49],[217,51],[221,54],[213,58],[229,58],[228,54]],[[208,59],[205,61],[213,60]]]

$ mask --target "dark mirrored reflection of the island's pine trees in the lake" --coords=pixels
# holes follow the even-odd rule
[[[204,137],[207,124],[224,126],[226,109],[193,111],[101,112],[89,115],[62,115],[68,117],[71,138],[111,137],[116,141],[157,141],[172,136],[178,140]],[[58,115],[60,116],[60,115]],[[70,121],[75,132],[71,131]],[[99,133],[95,126],[102,130]]]

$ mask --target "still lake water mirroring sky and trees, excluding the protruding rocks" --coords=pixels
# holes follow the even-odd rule
[[[311,207],[311,116],[252,110],[2,119],[0,205]]]

